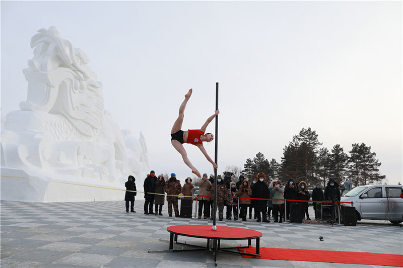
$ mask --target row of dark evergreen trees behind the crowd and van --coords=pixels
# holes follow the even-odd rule
[[[347,154],[340,144],[334,145],[331,151],[321,145],[315,130],[303,128],[284,147],[281,163],[274,158],[268,161],[258,152],[253,159],[246,159],[241,173],[249,180],[258,172],[264,172],[270,181],[276,179],[284,183],[293,178],[296,183],[320,183],[323,187],[329,178],[338,184],[351,178],[355,187],[381,183],[385,179],[385,175],[379,174],[381,162],[376,159],[376,153],[371,152],[371,146],[353,143]]]

